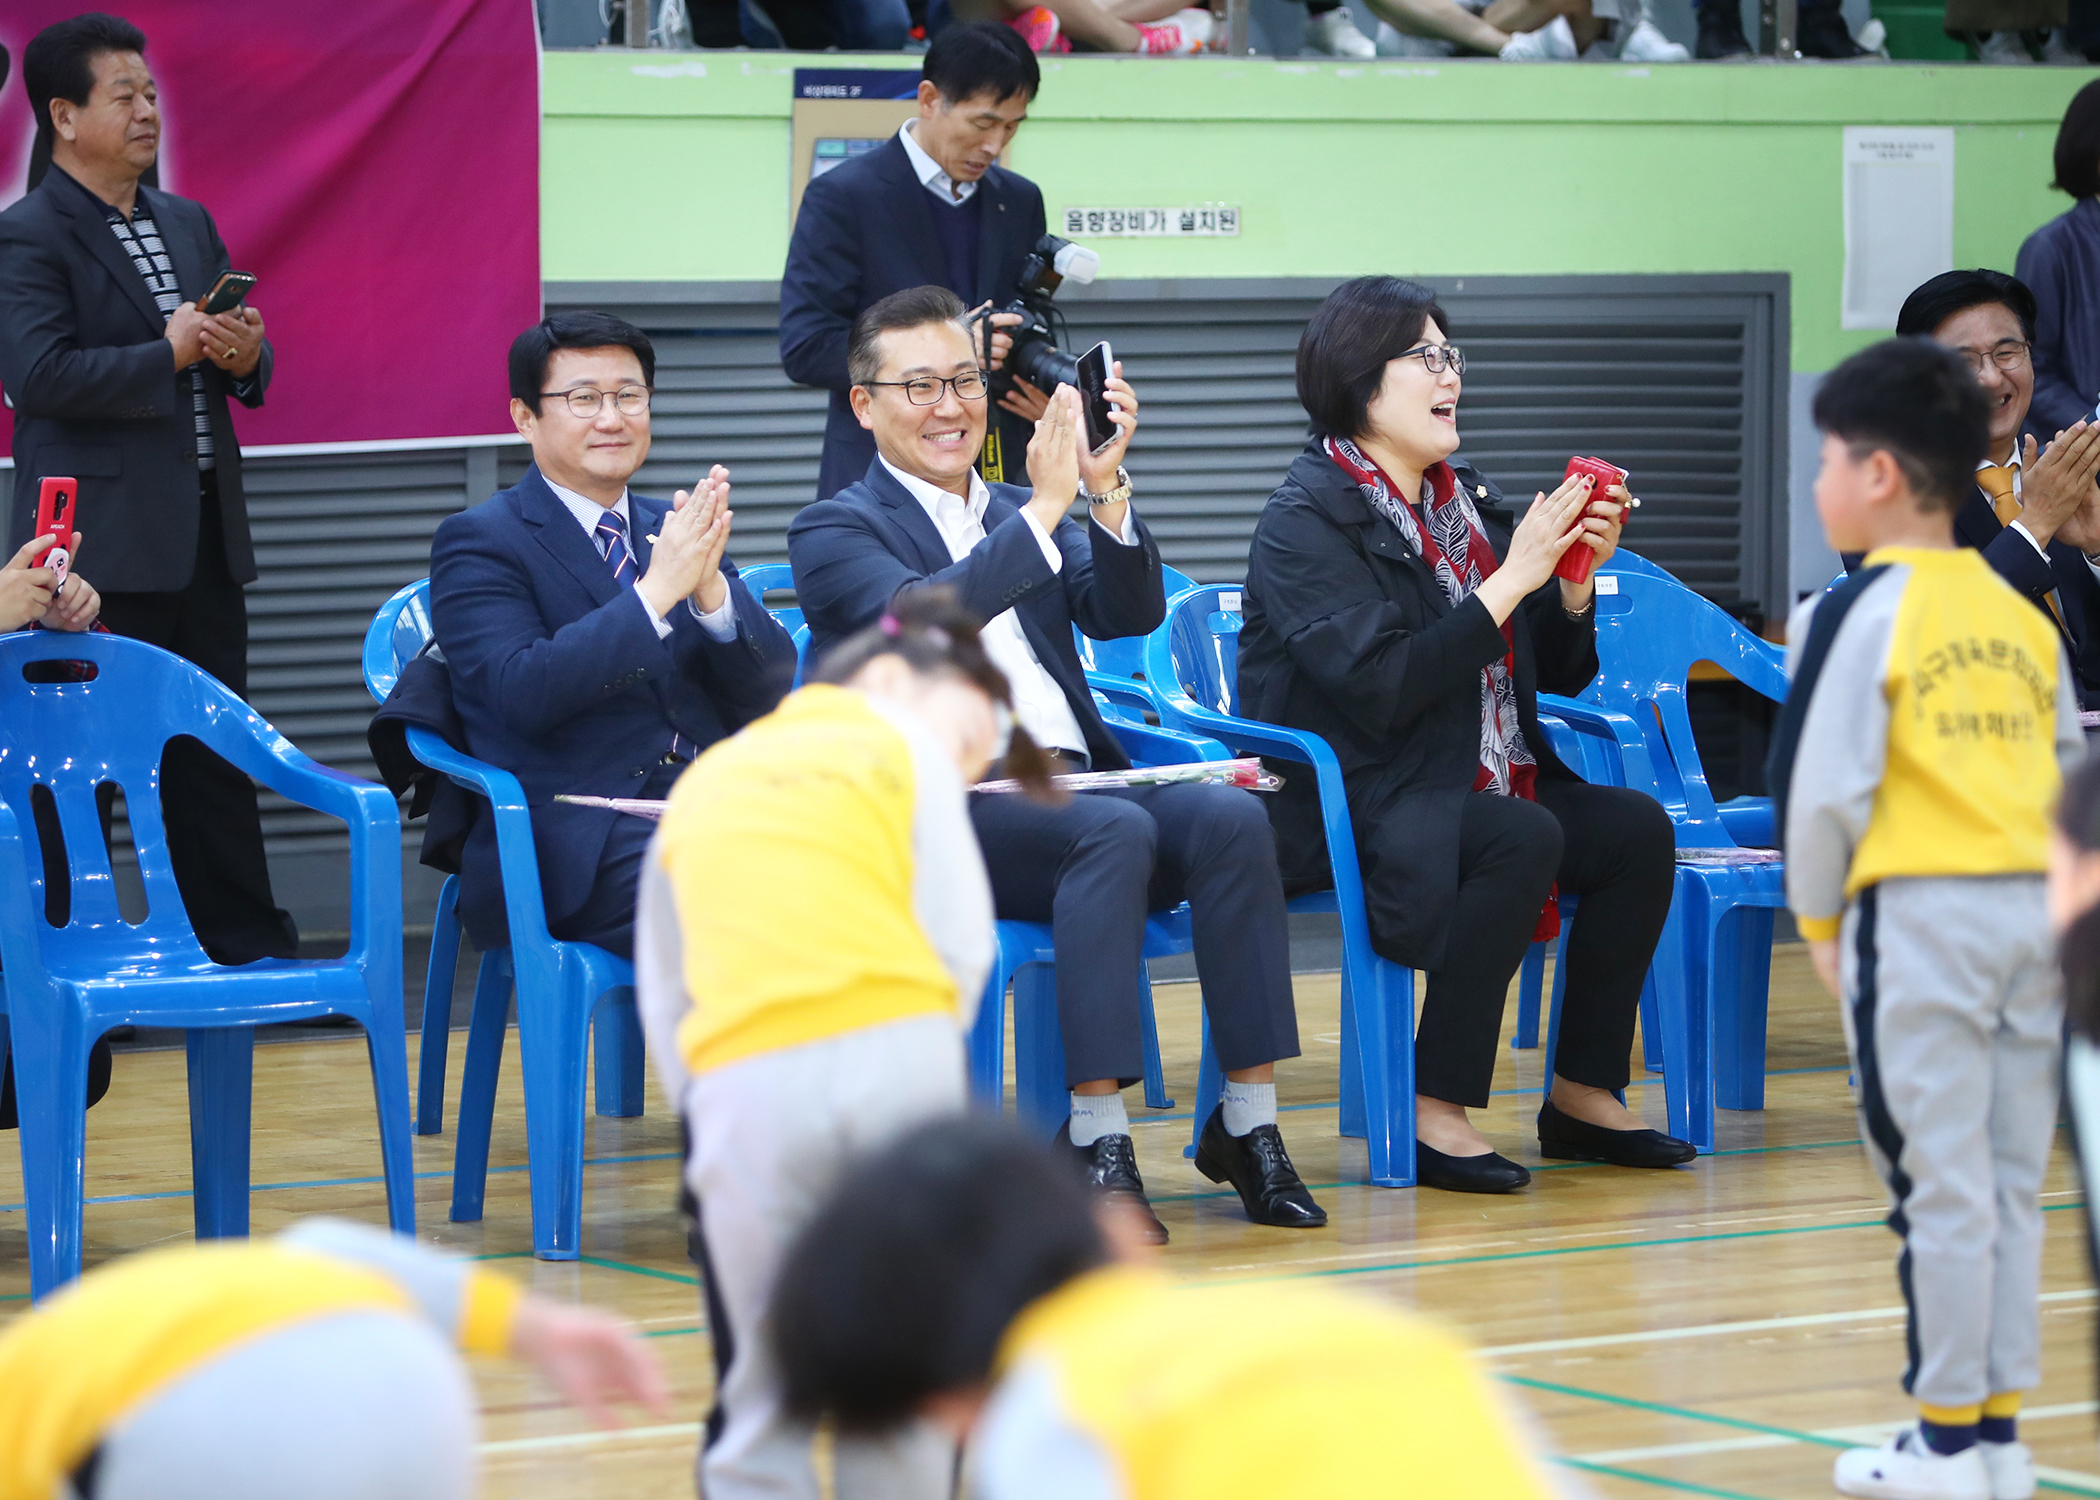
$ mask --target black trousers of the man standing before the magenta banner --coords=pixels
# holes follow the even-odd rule
[[[227,567],[218,477],[210,471],[202,500],[189,586],[166,595],[103,595],[103,624],[195,662],[246,697],[248,599]],[[298,926],[271,895],[254,782],[202,742],[178,735],[160,763],[160,815],[174,884],[204,952],[220,964],[294,958]]]

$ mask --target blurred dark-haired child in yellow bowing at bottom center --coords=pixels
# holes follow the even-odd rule
[[[1567,1494],[1449,1332],[1308,1282],[1178,1286],[1000,1120],[848,1172],[773,1324],[796,1410],[968,1433],[983,1500]]]

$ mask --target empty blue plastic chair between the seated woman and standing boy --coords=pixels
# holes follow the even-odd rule
[[[1682,584],[1606,571],[1598,588],[1600,670],[1583,702],[1625,714],[1646,748],[1653,792],[1676,824],[1678,849],[1745,847],[1714,803],[1686,708],[1695,662],[1714,662],[1774,702],[1787,695],[1785,653]],[[1770,826],[1770,811],[1764,811]],[[1779,861],[1722,866],[1678,861],[1676,899],[1655,956],[1670,1132],[1714,1149],[1714,1109],[1764,1107],[1764,1027],[1772,979],[1772,912],[1787,903]]]

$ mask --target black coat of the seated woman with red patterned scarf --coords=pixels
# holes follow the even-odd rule
[[[1468,462],[1495,555],[1516,519]],[[1478,487],[1487,496],[1478,496]],[[1325,739],[1342,763],[1359,847],[1369,828],[1405,830],[1390,861],[1405,889],[1388,905],[1405,918],[1373,933],[1378,950],[1415,968],[1441,968],[1457,897],[1457,824],[1480,769],[1480,672],[1508,645],[1476,597],[1451,607],[1422,555],[1371,511],[1319,441],[1289,473],[1254,527],[1239,630],[1239,710]],[[1548,580],[1510,616],[1516,706],[1541,777],[1579,779],[1539,733],[1539,689],[1579,693],[1596,676],[1596,620],[1569,620]],[[1285,767],[1289,771],[1292,767]],[[1289,777],[1270,800],[1285,882],[1325,884],[1325,845],[1310,779]]]

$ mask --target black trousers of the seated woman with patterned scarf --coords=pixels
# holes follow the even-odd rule
[[[1457,905],[1445,966],[1415,1029],[1415,1092],[1487,1105],[1502,1004],[1546,893],[1579,895],[1560,1000],[1560,1078],[1625,1088],[1640,983],[1670,916],[1676,834],[1661,805],[1623,786],[1539,779],[1539,800],[1474,792],[1460,817]]]

